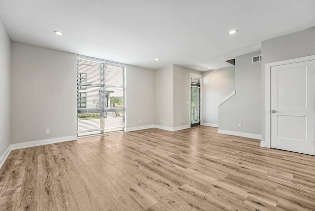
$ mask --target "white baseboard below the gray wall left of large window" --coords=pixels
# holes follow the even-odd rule
[[[22,149],[22,148],[28,148],[33,146],[41,146],[46,144],[52,144],[52,143],[59,143],[59,142],[65,142],[65,141],[75,141],[78,140],[77,136],[66,136],[66,137],[60,137],[55,139],[45,139],[45,140],[39,140],[39,141],[30,141],[30,142],[23,142],[23,143],[14,143],[11,144],[11,149]]]

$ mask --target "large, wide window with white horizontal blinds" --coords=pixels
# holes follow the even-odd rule
[[[77,60],[78,136],[123,131],[125,67]]]

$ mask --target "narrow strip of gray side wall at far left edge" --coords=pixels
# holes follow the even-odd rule
[[[10,145],[11,40],[0,19],[0,158]]]

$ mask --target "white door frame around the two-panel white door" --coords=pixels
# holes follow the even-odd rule
[[[270,89],[271,67],[297,63],[297,62],[306,62],[306,61],[311,61],[311,60],[315,60],[315,55],[265,64],[265,141],[261,141],[260,146],[270,148],[270,142],[271,142],[271,113],[270,113],[270,110],[271,110],[270,109],[271,107],[270,106],[271,105],[271,89]]]

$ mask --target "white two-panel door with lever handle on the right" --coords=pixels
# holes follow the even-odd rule
[[[315,61],[271,67],[271,148],[315,155]]]

